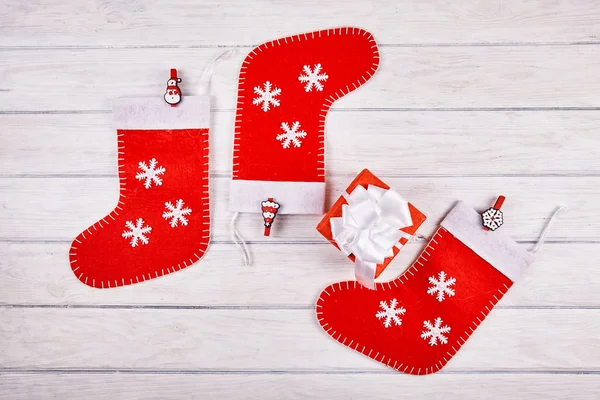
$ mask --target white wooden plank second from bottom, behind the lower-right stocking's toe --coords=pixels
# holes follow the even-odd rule
[[[389,371],[333,341],[313,309],[2,308],[0,320],[0,368]],[[598,309],[494,310],[444,371],[597,371],[598,329]]]

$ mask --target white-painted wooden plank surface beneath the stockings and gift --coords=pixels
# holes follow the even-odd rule
[[[294,4],[295,3],[295,4]],[[326,4],[328,3],[328,4]],[[371,4],[372,3],[372,4]],[[600,7],[597,1],[3,0],[0,6],[0,397],[6,399],[597,399]],[[377,5],[375,4],[377,3]],[[537,263],[440,373],[397,373],[329,338],[313,303],[352,265],[319,216],[261,236],[254,265],[225,203],[237,72],[252,45],[356,25],[382,64],[327,119],[329,204],[368,167],[428,215],[402,272],[457,199],[508,198],[502,228]],[[213,238],[200,262],[94,290],[71,240],[118,197],[115,97],[213,80]]]

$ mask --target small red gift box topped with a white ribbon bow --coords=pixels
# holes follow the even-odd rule
[[[355,262],[357,279],[370,287],[425,219],[425,214],[364,169],[325,214],[317,231]],[[365,268],[370,270],[367,282],[360,276]]]

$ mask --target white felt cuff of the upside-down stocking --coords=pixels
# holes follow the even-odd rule
[[[261,213],[268,198],[281,204],[279,214],[323,214],[325,182],[275,182],[234,179],[229,186],[229,210]]]

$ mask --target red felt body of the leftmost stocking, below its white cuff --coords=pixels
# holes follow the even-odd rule
[[[200,259],[210,240],[208,190],[208,129],[117,130],[120,195],[115,209],[81,232],[69,252],[71,269],[86,285],[113,288],[154,279],[186,268]],[[158,185],[137,179],[140,162],[164,168]],[[163,217],[167,202],[177,209],[191,209],[187,220]],[[152,230],[148,243],[123,237],[143,220]]]

